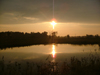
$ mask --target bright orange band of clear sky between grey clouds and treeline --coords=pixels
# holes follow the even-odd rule
[[[91,25],[86,27],[84,25]],[[95,25],[95,27],[94,27]],[[0,32],[4,31],[20,31],[20,32],[44,32],[47,31],[50,34],[52,31],[57,31],[60,36],[78,36],[92,34],[100,35],[99,24],[81,24],[81,23],[57,23],[55,29],[53,29],[50,22],[35,23],[35,24],[15,24],[15,25],[0,25]]]

